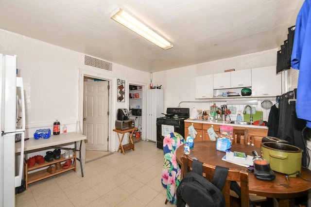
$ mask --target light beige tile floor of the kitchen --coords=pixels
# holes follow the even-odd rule
[[[172,206],[164,204],[163,150],[145,141],[135,149],[87,162],[84,177],[71,170],[32,183],[16,195],[16,207]]]

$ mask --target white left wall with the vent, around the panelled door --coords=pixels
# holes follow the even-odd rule
[[[0,53],[17,55],[18,76],[23,78],[26,98],[26,137],[33,137],[35,129],[50,127],[58,119],[68,131],[75,131],[79,113],[79,70],[90,70],[112,79],[111,93],[117,93],[117,79],[148,84],[150,74],[112,63],[113,71],[84,65],[82,53],[61,48],[13,32],[0,30]],[[139,77],[139,78],[138,78]],[[112,97],[116,97],[113,95]],[[111,116],[116,109],[127,108],[128,98],[118,103],[111,100]],[[119,146],[112,119],[110,150]]]

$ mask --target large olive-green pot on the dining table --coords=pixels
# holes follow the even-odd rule
[[[267,142],[261,143],[261,151],[264,159],[270,162],[272,170],[291,174],[301,172],[301,158],[303,150],[286,143]],[[295,177],[296,174],[290,175]]]

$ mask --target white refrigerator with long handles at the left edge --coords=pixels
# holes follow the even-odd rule
[[[25,101],[22,78],[17,77],[17,56],[0,54],[0,207],[15,206],[15,187],[21,185],[24,157]],[[15,153],[20,137],[20,156]],[[18,160],[17,160],[18,159]]]

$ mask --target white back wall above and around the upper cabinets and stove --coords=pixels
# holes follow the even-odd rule
[[[153,73],[153,83],[162,85],[164,90],[164,111],[168,107],[178,107],[181,101],[204,101],[195,99],[195,76],[223,73],[227,69],[244,70],[256,67],[276,65],[276,49],[221,59],[203,64],[190,65],[172,70]],[[214,102],[214,101],[213,101]],[[213,103],[212,102],[212,103]],[[263,118],[268,120],[270,110],[261,109],[261,101],[254,105],[258,111],[263,111]],[[275,101],[273,101],[275,103]],[[225,102],[216,102],[217,106]],[[182,103],[180,107],[209,110],[211,103]],[[245,105],[238,105],[237,110],[242,110]],[[233,114],[233,118],[235,120]]]

